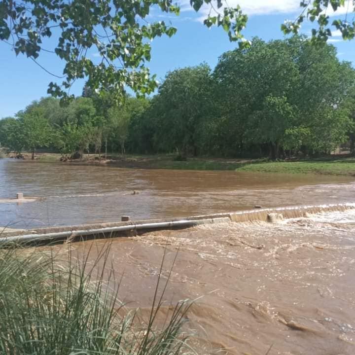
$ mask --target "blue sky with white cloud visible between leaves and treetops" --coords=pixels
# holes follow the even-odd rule
[[[157,74],[161,81],[167,71],[185,66],[194,66],[202,62],[212,68],[218,57],[226,50],[234,49],[237,44],[230,43],[227,34],[221,28],[207,29],[202,24],[208,12],[204,7],[195,13],[189,5],[189,0],[181,0],[181,13],[162,15],[154,10],[149,21],[171,21],[178,28],[172,38],[156,38],[152,42],[152,59],[148,63],[151,73]],[[259,36],[264,40],[283,38],[280,25],[285,19],[294,19],[299,14],[299,0],[229,0],[229,5],[239,3],[244,12],[249,15],[248,27],[244,31],[247,38]],[[302,29],[310,33],[312,26],[306,23]],[[338,33],[330,40],[338,48],[340,60],[355,63],[355,42],[344,42]],[[53,46],[49,41],[47,46]],[[47,86],[55,80],[25,56],[15,56],[11,47],[0,42],[0,118],[14,115],[20,109],[29,105],[33,100],[46,96]],[[96,53],[89,54],[91,59],[98,60]],[[42,52],[38,62],[47,70],[61,74],[63,62],[54,54]],[[77,81],[72,87],[72,93],[81,95],[83,81]]]

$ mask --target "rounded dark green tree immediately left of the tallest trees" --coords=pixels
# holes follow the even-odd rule
[[[183,157],[196,155],[205,121],[210,115],[211,69],[202,64],[171,71],[152,102],[156,117],[155,143]]]

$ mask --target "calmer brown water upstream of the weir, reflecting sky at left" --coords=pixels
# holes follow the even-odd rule
[[[119,169],[0,159],[0,226],[31,228],[354,202],[355,178],[231,171]],[[138,194],[133,195],[133,191]]]

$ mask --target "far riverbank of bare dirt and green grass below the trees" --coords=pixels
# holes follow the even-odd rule
[[[11,156],[11,155],[10,155]],[[31,154],[24,153],[24,159],[30,160]],[[44,163],[60,162],[57,153],[37,153],[36,161]],[[223,158],[188,158],[186,161],[175,160],[174,155],[120,155],[110,154],[107,159],[98,155],[85,155],[63,164],[111,165],[134,169],[176,169],[176,170],[229,170],[258,173],[283,174],[322,174],[355,176],[355,158],[349,155],[332,155],[318,159],[271,162],[268,159],[223,159]]]

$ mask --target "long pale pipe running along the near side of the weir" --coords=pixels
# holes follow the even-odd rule
[[[173,227],[192,227],[194,225],[203,223],[214,223],[218,221],[230,220],[229,218],[210,218],[201,220],[179,220],[170,222],[155,222],[155,223],[142,223],[142,224],[129,224],[117,227],[107,227],[100,229],[87,229],[87,230],[73,230],[66,232],[45,233],[45,234],[27,234],[13,237],[0,238],[0,244],[3,243],[25,243],[35,242],[40,240],[58,240],[65,239],[71,236],[88,236],[95,234],[105,234],[112,232],[123,232],[135,229],[159,229],[159,228],[173,228]]]

